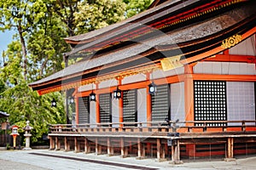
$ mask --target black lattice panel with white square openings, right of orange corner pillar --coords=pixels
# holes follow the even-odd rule
[[[226,82],[195,81],[195,121],[211,121],[207,126],[225,126],[227,120]],[[195,123],[202,126],[203,123]]]

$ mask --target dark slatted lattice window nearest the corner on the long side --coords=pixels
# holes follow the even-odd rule
[[[157,86],[156,94],[151,97],[152,122],[170,120],[170,103],[169,84]]]

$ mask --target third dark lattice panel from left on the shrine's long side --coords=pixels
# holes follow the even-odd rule
[[[137,122],[137,90],[123,91],[124,122]]]

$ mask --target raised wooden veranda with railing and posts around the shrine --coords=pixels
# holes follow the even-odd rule
[[[203,126],[195,126],[197,123]],[[158,161],[170,156],[174,163],[182,162],[181,156],[222,155],[229,161],[235,155],[256,153],[256,121],[223,121],[220,123],[225,126],[221,127],[210,126],[210,123],[55,124],[49,126],[49,149],[132,155],[137,159],[154,155]],[[241,148],[241,144],[246,146]]]

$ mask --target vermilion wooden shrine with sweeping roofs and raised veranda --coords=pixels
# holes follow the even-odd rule
[[[51,125],[50,149],[175,163],[255,154],[255,6],[154,1],[142,14],[66,38],[66,56],[82,59],[30,84],[38,94],[73,89],[76,123]]]

